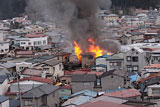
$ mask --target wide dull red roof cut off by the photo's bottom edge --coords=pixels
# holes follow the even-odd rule
[[[134,107],[134,106],[100,100],[95,102],[87,102],[87,103],[78,105],[77,107]]]

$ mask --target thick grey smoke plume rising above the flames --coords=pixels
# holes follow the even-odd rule
[[[99,36],[104,25],[98,18],[98,12],[100,9],[109,9],[110,6],[110,0],[30,0],[26,10],[37,12],[44,18],[51,18],[56,24],[70,31],[71,39],[76,40],[85,50],[89,37],[98,41],[96,43],[103,44]],[[107,47],[107,42],[103,46]]]

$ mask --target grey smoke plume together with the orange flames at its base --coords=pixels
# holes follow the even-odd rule
[[[88,57],[86,53],[92,53],[94,59],[118,46],[111,45],[116,44],[113,41],[102,42],[100,38],[105,36],[107,40],[111,39],[102,31],[104,23],[98,17],[100,9],[109,9],[110,4],[110,0],[30,0],[27,9],[49,17],[68,31],[75,53],[79,61],[83,62],[83,56]]]

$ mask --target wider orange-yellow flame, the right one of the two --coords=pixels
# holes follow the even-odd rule
[[[89,52],[94,53],[95,57],[99,57],[103,55],[103,50],[101,50],[99,46],[95,45],[95,41],[92,38],[89,38],[88,42],[91,43],[88,49]]]

